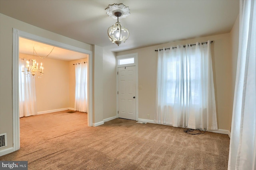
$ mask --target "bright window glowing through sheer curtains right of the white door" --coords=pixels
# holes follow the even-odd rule
[[[200,104],[199,89],[201,88],[200,61],[196,61],[196,55],[190,55],[189,61],[181,63],[179,56],[167,59],[166,64],[166,105],[173,105],[175,102],[182,102],[186,106],[187,99],[190,104]],[[181,61],[185,61],[182,59]],[[182,95],[182,100],[177,101]]]

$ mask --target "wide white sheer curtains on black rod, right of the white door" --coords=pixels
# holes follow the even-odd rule
[[[210,44],[158,50],[156,123],[218,129]]]

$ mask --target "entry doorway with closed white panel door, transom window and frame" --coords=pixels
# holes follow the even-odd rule
[[[116,57],[117,117],[138,120],[138,53]]]

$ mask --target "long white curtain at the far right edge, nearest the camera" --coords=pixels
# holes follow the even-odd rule
[[[240,0],[229,170],[256,170],[256,2]]]

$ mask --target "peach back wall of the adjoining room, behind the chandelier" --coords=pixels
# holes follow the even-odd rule
[[[69,107],[69,69],[67,61],[41,59],[20,53],[20,58],[36,59],[43,63],[44,74],[35,76],[37,112]],[[40,65],[40,64],[39,64]]]

